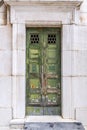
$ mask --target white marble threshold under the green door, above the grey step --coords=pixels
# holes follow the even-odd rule
[[[22,119],[12,119],[10,121],[10,127],[14,129],[24,128],[25,123],[36,123],[36,122],[43,122],[43,123],[54,123],[54,122],[78,122],[72,119],[64,119],[61,116],[27,116]]]

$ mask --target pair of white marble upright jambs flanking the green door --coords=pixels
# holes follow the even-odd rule
[[[40,25],[39,25],[40,26]],[[50,25],[51,26],[51,25]],[[25,24],[13,24],[13,118],[25,118],[25,88],[26,88],[26,27]],[[28,26],[29,27],[29,26]],[[37,26],[36,26],[37,27]],[[44,27],[41,25],[41,27]],[[48,27],[48,26],[45,26]],[[55,27],[55,25],[54,25]],[[58,26],[59,27],[59,26]],[[61,27],[61,26],[60,26]],[[72,85],[71,85],[71,63],[72,51],[65,48],[65,41],[73,39],[74,25],[62,25],[61,33],[61,104],[62,104],[62,117],[73,118],[72,115]],[[71,30],[71,33],[70,33]],[[15,33],[16,31],[16,33]],[[66,33],[67,32],[67,33]],[[20,39],[20,33],[22,35]],[[17,43],[15,44],[17,40]],[[21,45],[22,44],[22,45]],[[18,46],[17,46],[18,45]],[[21,45],[21,46],[20,46]],[[17,48],[18,47],[18,48]],[[22,47],[22,48],[21,48]],[[17,48],[17,50],[15,49]],[[65,61],[69,62],[65,63]],[[66,72],[67,70],[67,72]],[[20,89],[21,88],[21,89]],[[66,91],[67,90],[67,91]],[[20,93],[20,94],[19,94]],[[22,102],[20,102],[22,99]],[[66,104],[65,104],[66,102]],[[21,110],[20,110],[21,106]]]

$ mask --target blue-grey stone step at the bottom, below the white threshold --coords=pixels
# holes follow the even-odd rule
[[[27,123],[24,130],[84,130],[81,123]]]

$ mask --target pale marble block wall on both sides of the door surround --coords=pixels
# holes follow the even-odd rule
[[[0,15],[2,14],[5,14],[3,9],[1,9],[0,12]],[[6,17],[4,16],[6,15],[2,15],[3,19],[0,24],[0,130],[10,130],[9,124],[13,118],[13,27],[11,24],[5,25]],[[66,80],[64,84],[71,84],[73,88],[72,105],[74,108],[74,119],[81,121],[84,125],[87,125],[87,0],[84,0],[81,5],[79,21],[79,24],[75,24],[73,26],[75,42],[72,43],[71,50],[71,53],[73,54],[71,70],[72,75],[65,78]],[[67,45],[70,47],[69,43]],[[67,66],[67,63],[65,64]]]

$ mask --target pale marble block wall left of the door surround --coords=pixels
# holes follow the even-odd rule
[[[8,130],[12,119],[11,25],[0,25],[0,130]]]

